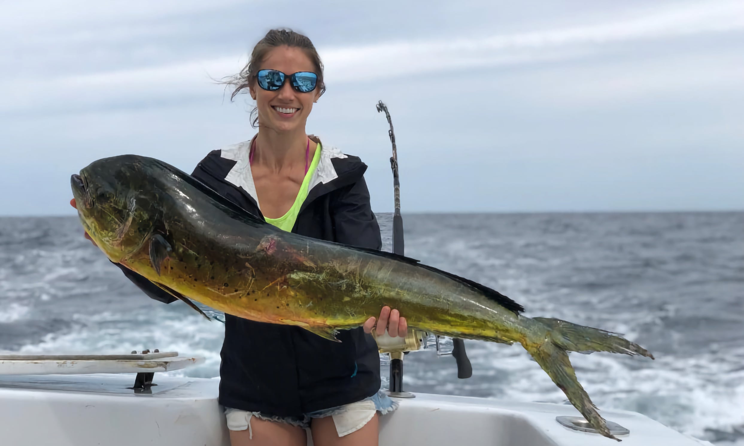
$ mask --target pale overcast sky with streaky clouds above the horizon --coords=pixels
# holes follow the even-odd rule
[[[744,1],[0,1],[0,214],[68,214],[69,176],[185,171],[251,138],[212,83],[269,28],[310,36],[308,133],[391,211],[744,209]]]

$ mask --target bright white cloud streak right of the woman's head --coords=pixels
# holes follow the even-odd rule
[[[331,80],[374,79],[452,66],[508,65],[560,60],[600,51],[599,45],[744,29],[744,2],[666,7],[622,22],[478,39],[391,42],[331,48],[323,57]],[[391,69],[394,69],[391,71]]]

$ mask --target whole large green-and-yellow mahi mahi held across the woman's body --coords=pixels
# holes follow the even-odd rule
[[[567,352],[653,358],[609,331],[522,316],[522,305],[498,291],[412,258],[282,231],[157,159],[100,159],[73,175],[71,187],[80,222],[111,261],[199,312],[189,299],[336,340],[337,331],[361,326],[387,305],[410,328],[520,343],[589,424],[612,439]]]

